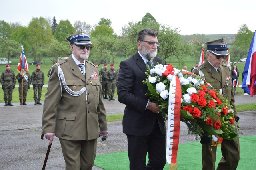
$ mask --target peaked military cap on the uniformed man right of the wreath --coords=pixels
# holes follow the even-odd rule
[[[228,44],[226,38],[220,38],[205,43],[207,50],[210,50],[215,55],[228,55]]]

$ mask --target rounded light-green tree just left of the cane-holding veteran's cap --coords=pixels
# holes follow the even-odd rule
[[[67,41],[66,38],[76,32],[75,28],[70,24],[69,20],[60,20],[56,27],[54,37],[58,42]]]

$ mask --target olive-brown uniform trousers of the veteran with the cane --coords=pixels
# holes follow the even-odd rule
[[[66,170],[91,170],[96,157],[97,139],[65,140],[59,139]],[[90,155],[90,156],[85,156]],[[93,156],[91,156],[93,155]]]

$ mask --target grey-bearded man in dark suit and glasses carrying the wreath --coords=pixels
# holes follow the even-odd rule
[[[161,170],[166,163],[165,122],[156,103],[148,101],[148,87],[142,83],[146,80],[147,65],[163,63],[156,57],[160,44],[157,36],[156,30],[141,30],[137,36],[138,52],[120,63],[118,100],[126,105],[123,132],[128,139],[130,170]]]

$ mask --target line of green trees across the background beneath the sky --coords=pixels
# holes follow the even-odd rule
[[[92,49],[90,60],[99,65],[105,62],[113,62],[116,57],[130,57],[138,51],[136,46],[137,34],[144,28],[152,28],[158,31],[158,57],[171,61],[178,60],[179,66],[184,65],[185,58],[192,57],[199,61],[202,44],[210,41],[204,34],[183,36],[178,28],[160,24],[150,14],[138,22],[128,22],[122,27],[121,35],[114,33],[109,19],[101,18],[98,24],[91,26],[81,21],[75,21],[72,25],[69,20],[56,22],[55,16],[33,17],[28,26],[22,26],[18,22],[7,23],[0,21],[0,57],[19,57],[21,48],[27,57],[42,61],[49,58],[52,62],[59,57],[68,57],[71,53],[70,43],[66,37],[83,29],[90,34]],[[240,26],[234,42],[230,44],[230,59],[232,64],[247,56],[252,40],[253,32],[246,24]],[[206,50],[205,50],[206,51]]]

